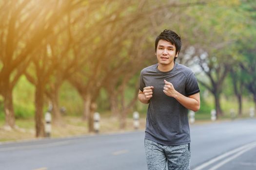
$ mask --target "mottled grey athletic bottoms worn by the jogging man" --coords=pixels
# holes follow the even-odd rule
[[[190,144],[161,145],[145,139],[148,170],[190,170]]]

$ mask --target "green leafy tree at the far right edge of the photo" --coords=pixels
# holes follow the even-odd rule
[[[239,103],[239,115],[242,114],[241,98],[243,94],[243,87],[246,87],[247,90],[253,94],[253,100],[256,103],[256,3],[253,0],[241,1],[242,4],[239,7],[239,11],[244,14],[247,19],[243,23],[245,28],[243,29],[243,32],[240,33],[240,39],[236,42],[237,49],[239,49],[239,57],[236,58],[236,63],[231,70],[234,91]]]

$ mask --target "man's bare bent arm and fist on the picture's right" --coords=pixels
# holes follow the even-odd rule
[[[172,83],[167,82],[166,80],[164,80],[164,83],[165,83],[165,85],[163,87],[163,92],[167,96],[175,98],[184,107],[186,107],[187,109],[193,110],[194,112],[197,112],[200,109],[200,94],[199,94],[199,92],[186,97],[186,96],[180,94],[178,91],[176,91]]]

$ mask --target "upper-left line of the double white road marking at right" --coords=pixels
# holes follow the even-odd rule
[[[202,170],[202,169],[204,169],[205,167],[210,166],[211,164],[217,162],[217,161],[220,160],[220,159],[223,159],[223,158],[225,158],[225,157],[227,157],[227,156],[229,156],[229,155],[231,155],[231,154],[234,154],[234,153],[240,152],[240,151],[242,151],[242,150],[245,150],[246,148],[250,148],[251,146],[254,146],[254,147],[255,147],[255,145],[256,145],[256,142],[252,142],[252,143],[246,144],[246,145],[244,145],[244,146],[241,146],[241,147],[239,147],[239,148],[236,148],[236,149],[234,149],[234,150],[231,150],[231,151],[229,151],[229,152],[227,152],[227,153],[224,153],[224,154],[222,154],[222,155],[217,156],[217,157],[214,158],[214,159],[211,159],[211,160],[208,161],[208,162],[205,162],[204,164],[202,164],[202,165],[200,165],[200,166],[194,168],[193,170]]]

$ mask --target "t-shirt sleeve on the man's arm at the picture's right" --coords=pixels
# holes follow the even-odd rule
[[[189,76],[187,77],[185,91],[186,91],[187,96],[191,96],[200,91],[199,87],[198,87],[196,76],[193,72],[191,74],[189,74]]]

